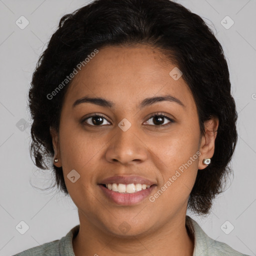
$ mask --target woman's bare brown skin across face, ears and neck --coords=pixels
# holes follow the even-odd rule
[[[200,134],[187,84],[182,76],[174,80],[169,75],[174,67],[151,46],[105,46],[69,85],[59,133],[51,129],[51,135],[58,158],[54,164],[62,166],[69,195],[78,208],[80,230],[72,241],[76,256],[192,256],[194,241],[185,227],[187,200],[197,170],[207,166],[203,158],[213,155],[218,119],[205,122],[206,134]],[[144,98],[165,94],[184,106],[161,101],[138,109]],[[72,107],[85,95],[111,100],[115,107],[88,102]],[[155,124],[150,116],[157,112],[174,122],[164,118],[162,124]],[[82,124],[93,113],[104,116],[101,126],[92,126],[93,118],[86,120],[87,126],[86,121]],[[131,123],[127,131],[118,126],[123,118]],[[146,197],[134,205],[118,205],[97,185],[109,176],[135,174],[157,184],[153,195],[197,151],[201,155],[154,202]],[[74,183],[67,178],[72,169],[80,174]],[[123,221],[130,226],[126,233],[118,228]]]

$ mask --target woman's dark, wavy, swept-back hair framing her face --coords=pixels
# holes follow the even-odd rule
[[[38,59],[29,89],[30,156],[37,167],[53,168],[54,186],[68,194],[62,167],[48,160],[54,155],[49,128],[58,132],[70,82],[52,99],[47,95],[95,48],[138,43],[159,48],[182,71],[196,103],[201,134],[204,121],[219,119],[211,163],[198,170],[188,198],[194,213],[207,214],[232,171],[228,163],[237,141],[237,112],[220,43],[200,16],[170,0],[94,0],[62,16]]]

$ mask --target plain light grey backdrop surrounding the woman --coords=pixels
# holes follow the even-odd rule
[[[36,61],[59,19],[87,2],[0,0],[0,255],[59,239],[79,223],[69,197],[33,187],[49,186],[52,174],[39,170],[30,159],[26,100]],[[231,162],[234,176],[225,192],[216,197],[207,217],[188,215],[213,239],[256,255],[256,0],[177,2],[200,15],[223,46],[238,112],[239,136]],[[15,23],[21,15],[29,21],[24,29]],[[221,24],[226,15],[234,21],[229,29]],[[225,20],[225,26],[231,24],[230,19]],[[24,234],[15,228],[21,220],[29,226]],[[226,220],[225,231],[234,226],[229,234],[223,232]]]

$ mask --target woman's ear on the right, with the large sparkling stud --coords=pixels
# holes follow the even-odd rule
[[[204,158],[211,158],[214,153],[215,138],[217,136],[218,118],[212,117],[211,119],[204,122],[205,134],[201,136],[200,148],[201,153],[199,157],[198,169],[204,169],[207,164],[202,161]]]

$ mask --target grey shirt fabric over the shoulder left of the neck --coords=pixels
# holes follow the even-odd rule
[[[61,239],[43,243],[36,247],[21,251],[13,256],[74,256],[72,238],[78,233],[79,227],[79,225],[74,226]]]

